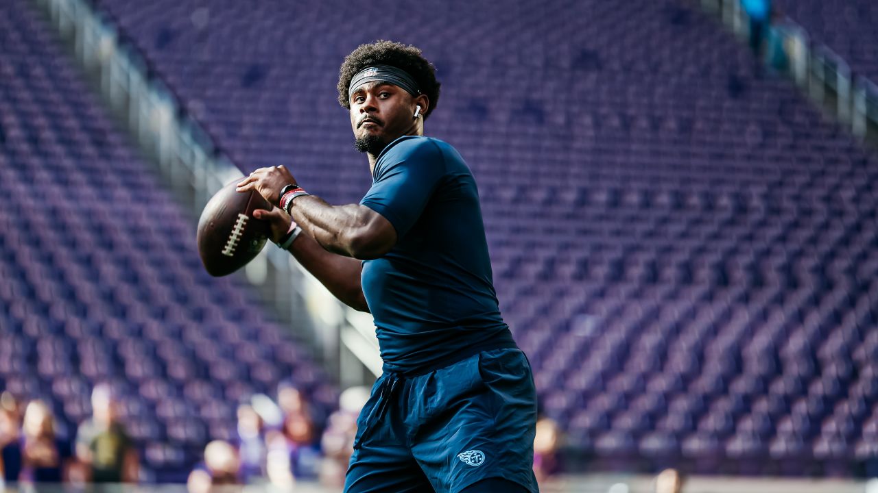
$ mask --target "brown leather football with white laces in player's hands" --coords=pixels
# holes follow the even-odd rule
[[[235,191],[240,180],[228,183],[205,205],[198,219],[198,254],[210,275],[229,275],[247,265],[265,247],[270,223],[253,211],[270,211],[259,192]]]

